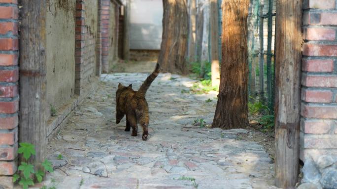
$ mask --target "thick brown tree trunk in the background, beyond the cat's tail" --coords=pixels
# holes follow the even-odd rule
[[[163,0],[163,37],[158,62],[161,71],[185,74],[188,19],[186,0]]]

